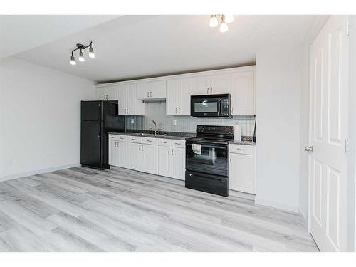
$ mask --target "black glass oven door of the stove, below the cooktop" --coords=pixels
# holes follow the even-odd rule
[[[201,151],[193,151],[193,144],[201,145]],[[186,142],[186,169],[228,176],[228,145],[209,142]]]

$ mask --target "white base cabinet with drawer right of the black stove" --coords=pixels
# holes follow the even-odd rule
[[[229,189],[256,194],[256,147],[229,145]]]

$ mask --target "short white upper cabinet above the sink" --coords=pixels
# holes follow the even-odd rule
[[[166,98],[166,80],[137,83],[137,98],[142,100]]]

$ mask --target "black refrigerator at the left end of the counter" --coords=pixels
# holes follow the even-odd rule
[[[108,132],[124,132],[125,116],[118,115],[117,101],[82,101],[80,164],[108,169]]]

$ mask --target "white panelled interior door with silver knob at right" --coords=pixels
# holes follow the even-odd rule
[[[310,233],[320,251],[347,244],[347,17],[331,16],[310,47]]]

